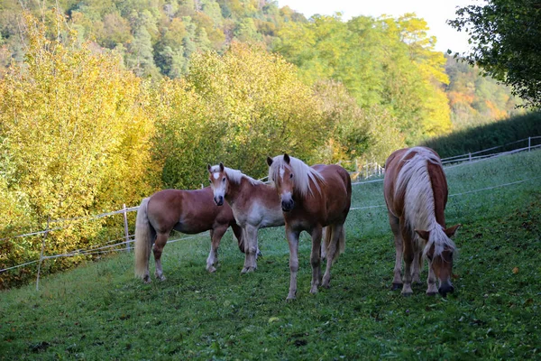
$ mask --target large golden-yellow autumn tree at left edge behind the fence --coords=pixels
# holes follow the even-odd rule
[[[115,57],[78,47],[60,17],[53,27],[65,36],[53,40],[44,23],[29,14],[24,19],[26,58],[0,79],[0,194],[14,200],[0,208],[4,236],[21,226],[22,215],[26,225],[42,229],[47,218],[135,204],[151,190],[153,125],[141,79]],[[99,222],[65,226],[50,235],[47,252],[98,241]],[[32,242],[24,255],[35,259],[39,248]],[[22,256],[8,255],[13,262]]]

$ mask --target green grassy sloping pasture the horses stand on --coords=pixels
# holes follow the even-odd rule
[[[390,291],[394,245],[381,182],[353,186],[346,252],[329,290],[310,294],[310,242],[299,248],[296,301],[285,301],[283,228],[260,232],[263,257],[241,275],[231,232],[206,273],[207,236],[165,247],[165,282],[133,279],[115,255],[2,292],[0,359],[532,359],[541,358],[541,152],[446,170],[455,292]],[[481,190],[471,192],[472,190]],[[464,194],[465,193],[465,194]],[[178,235],[177,235],[178,236]],[[153,273],[153,264],[151,268]],[[426,279],[426,269],[421,277]]]

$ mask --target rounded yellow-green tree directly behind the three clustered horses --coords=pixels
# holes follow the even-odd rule
[[[164,81],[156,156],[168,187],[197,187],[208,162],[263,176],[267,155],[315,160],[326,125],[295,69],[257,46],[232,44],[224,56],[194,54],[187,80]]]

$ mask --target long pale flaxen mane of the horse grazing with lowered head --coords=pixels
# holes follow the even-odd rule
[[[409,158],[411,153],[414,155]],[[436,222],[434,191],[427,167],[427,162],[442,166],[441,160],[426,148],[414,147],[404,154],[400,162],[403,162],[403,166],[395,186],[395,197],[404,194],[406,222],[416,242],[419,242],[419,238],[415,229],[430,232],[423,255],[426,256],[432,245],[435,246],[435,257],[444,252],[445,246],[455,251],[456,245],[445,235],[444,227]]]

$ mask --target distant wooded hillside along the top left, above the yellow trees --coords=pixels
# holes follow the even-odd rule
[[[186,64],[196,49],[222,52],[231,41],[270,43],[282,23],[304,20],[302,16],[286,18],[274,2],[263,5],[258,1],[66,0],[41,6],[30,2],[25,6],[34,15],[42,15],[43,10],[47,14],[66,14],[69,25],[78,31],[79,42],[96,42],[105,51],[123,49],[129,69],[138,76],[154,78],[160,74],[170,78],[186,74]],[[0,40],[6,44],[5,51],[20,61],[21,12],[22,6],[16,0],[6,0],[0,6]]]

